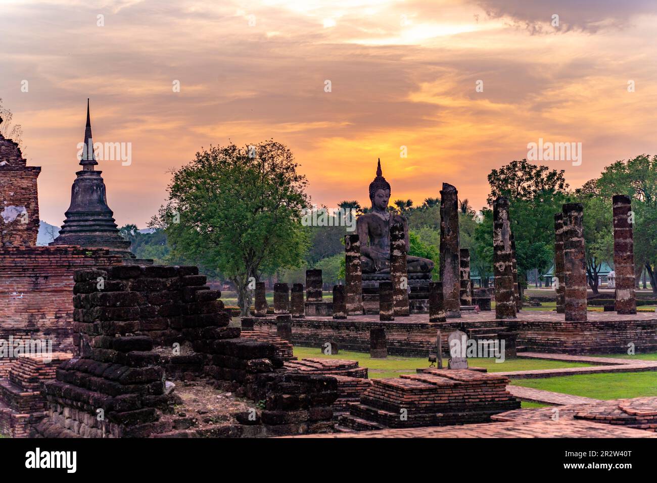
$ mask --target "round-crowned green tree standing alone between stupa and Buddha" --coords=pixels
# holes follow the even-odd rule
[[[168,201],[150,225],[166,231],[173,256],[231,280],[248,315],[252,279],[298,267],[306,254],[300,220],[309,200],[297,167],[292,152],[273,140],[202,150],[173,172]]]

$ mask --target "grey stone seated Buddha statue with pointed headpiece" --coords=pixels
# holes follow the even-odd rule
[[[361,244],[361,269],[363,273],[390,273],[390,225],[402,223],[406,252],[409,250],[408,221],[401,215],[388,211],[390,183],[381,173],[381,160],[378,161],[376,177],[369,185],[372,208],[369,213],[358,217],[356,230]],[[426,258],[407,255],[408,273],[429,273],[434,262]]]

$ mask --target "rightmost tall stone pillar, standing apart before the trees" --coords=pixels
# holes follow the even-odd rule
[[[629,196],[615,195],[614,271],[616,271],[616,311],[637,313],[634,294],[634,233],[630,223],[632,205]]]

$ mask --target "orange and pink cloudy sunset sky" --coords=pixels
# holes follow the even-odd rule
[[[541,163],[571,187],[657,153],[656,26],[654,0],[0,0],[0,97],[54,225],[87,97],[94,141],[132,143],[130,166],[97,168],[119,225],[145,227],[201,147],[270,137],[314,203],[369,205],[380,157],[392,200],[448,182],[480,208],[491,168],[539,138],[582,143],[581,166]]]

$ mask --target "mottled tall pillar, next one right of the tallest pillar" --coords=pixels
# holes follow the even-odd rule
[[[493,275],[495,275],[495,318],[514,319],[513,251],[509,200],[500,196],[493,202]]]

